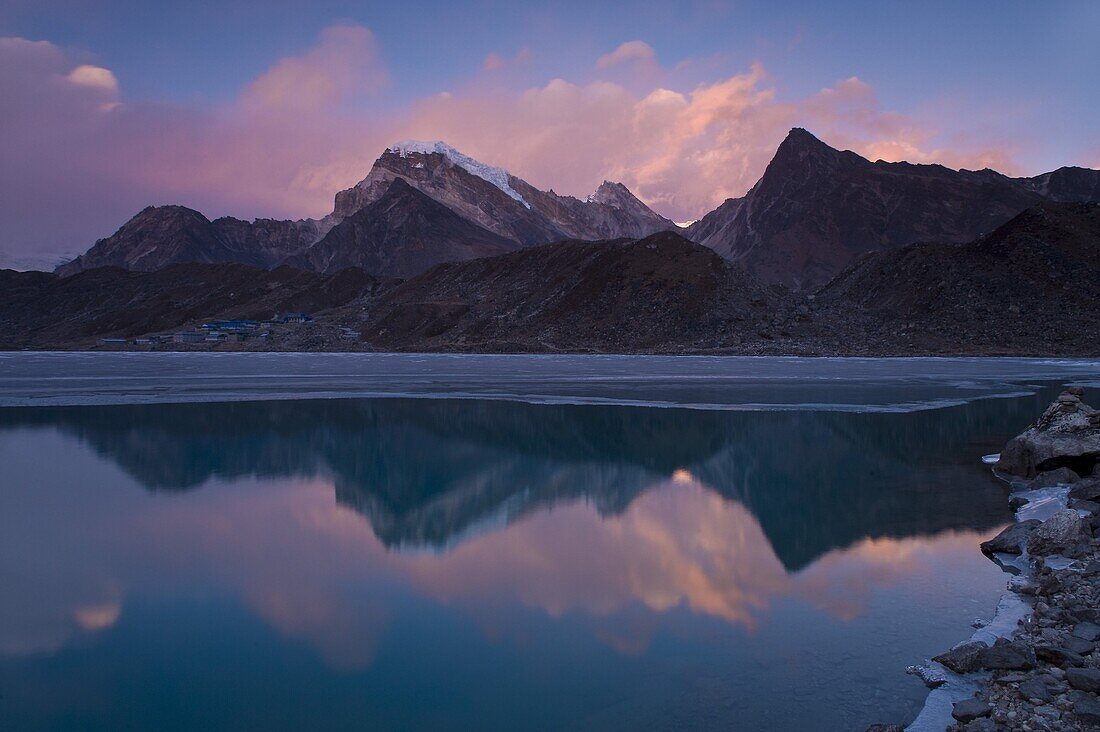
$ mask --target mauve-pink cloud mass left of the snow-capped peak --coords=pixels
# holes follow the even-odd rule
[[[351,103],[386,80],[359,26],[324,30],[212,109],[128,101],[108,68],[45,41],[0,39],[0,266],[48,267],[150,204],[322,215],[393,136],[385,116]]]

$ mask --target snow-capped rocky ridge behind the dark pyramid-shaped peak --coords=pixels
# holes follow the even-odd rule
[[[539,190],[443,142],[416,141],[387,149],[363,181],[338,193],[333,216],[346,218],[377,200],[395,178],[404,178],[460,216],[525,247],[559,239],[636,238],[675,228],[622,184],[605,182],[580,200]]]

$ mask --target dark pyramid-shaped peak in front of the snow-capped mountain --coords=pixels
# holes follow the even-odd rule
[[[408,277],[441,262],[502,254],[517,244],[462,218],[394,178],[377,200],[355,211],[288,263],[332,273],[358,266]]]

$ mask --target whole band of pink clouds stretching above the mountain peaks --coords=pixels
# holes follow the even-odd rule
[[[490,54],[483,68],[530,58]],[[937,142],[936,125],[881,108],[857,77],[782,100],[759,64],[697,84],[630,41],[607,78],[526,88],[474,76],[465,88],[377,111],[389,79],[370,30],[326,29],[212,108],[128,100],[124,79],[44,41],[0,39],[0,265],[75,254],[150,204],[208,216],[323,216],[400,138],[444,139],[535,185],[583,196],[622,181],[674,220],[694,219],[760,176],[793,125],[871,159],[1014,172],[1005,145]],[[712,72],[713,73],[713,69]],[[514,77],[513,77],[514,78]],[[58,206],[67,216],[56,215]]]

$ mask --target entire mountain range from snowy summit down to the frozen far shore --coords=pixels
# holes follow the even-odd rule
[[[681,228],[620,184],[559,196],[405,142],[322,219],[152,207],[54,273],[0,271],[0,348],[306,312],[217,348],[1096,356],[1098,199],[1098,171],[872,163],[795,129]]]

